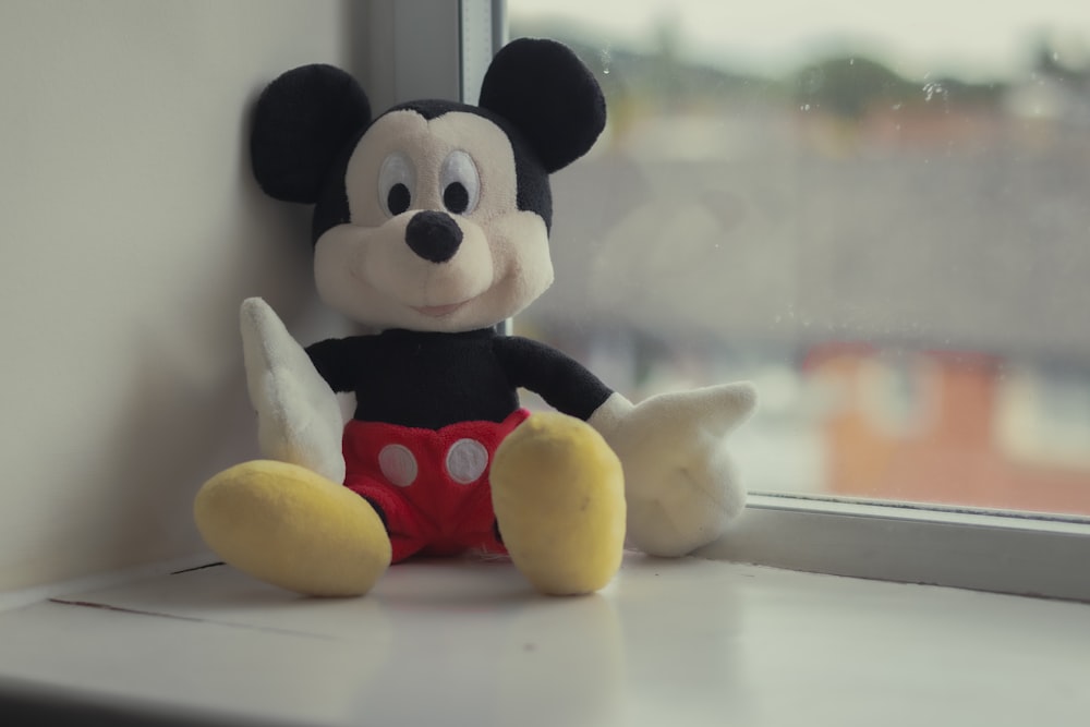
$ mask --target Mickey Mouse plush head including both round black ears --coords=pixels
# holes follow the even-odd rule
[[[263,94],[252,135],[258,183],[315,204],[314,274],[330,306],[378,329],[495,325],[553,281],[548,175],[605,125],[594,76],[565,46],[516,40],[479,106],[423,100],[371,119],[329,65]]]

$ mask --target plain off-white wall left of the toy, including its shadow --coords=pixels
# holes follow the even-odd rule
[[[0,2],[0,591],[201,550],[194,493],[256,453],[239,302],[337,331],[245,114],[348,65],[348,4]]]

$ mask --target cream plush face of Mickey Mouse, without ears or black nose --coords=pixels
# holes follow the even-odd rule
[[[352,221],[318,238],[314,275],[326,304],[361,324],[483,328],[553,282],[545,222],[519,211],[511,143],[487,119],[387,113],[353,152],[346,191]],[[405,240],[410,221],[426,210],[445,213],[461,232],[449,259],[427,259]]]

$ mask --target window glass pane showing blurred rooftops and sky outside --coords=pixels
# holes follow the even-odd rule
[[[516,322],[748,378],[754,490],[1090,513],[1090,3],[511,0],[609,126]]]

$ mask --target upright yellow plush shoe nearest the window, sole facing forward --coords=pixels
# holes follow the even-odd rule
[[[584,422],[532,415],[496,450],[492,496],[511,560],[542,593],[591,593],[620,567],[620,460]]]

